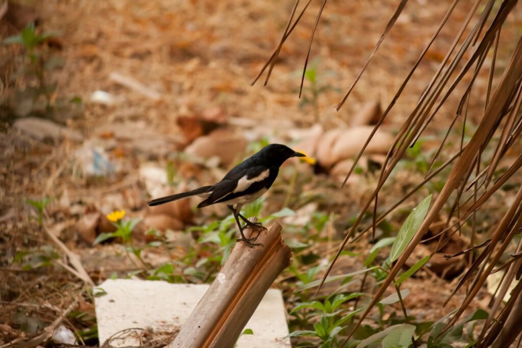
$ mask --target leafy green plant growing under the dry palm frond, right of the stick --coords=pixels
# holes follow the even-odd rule
[[[352,318],[366,307],[358,308],[362,296],[367,296],[363,292],[345,293],[346,286],[351,284],[355,276],[363,275],[361,289],[364,288],[364,283],[367,277],[373,277],[375,282],[382,282],[389,273],[390,265],[397,260],[401,252],[407,247],[408,243],[413,238],[413,234],[419,228],[424,220],[431,202],[431,195],[426,197],[416,208],[410,212],[404,224],[402,224],[396,237],[386,237],[375,243],[369,250],[369,255],[363,262],[364,269],[351,272],[348,274],[341,274],[329,276],[324,283],[340,281],[337,287],[336,295],[326,297],[322,300],[307,301],[306,296],[302,296],[301,302],[298,302],[291,311],[294,316],[294,323],[300,328],[290,333],[290,337],[310,337],[321,341],[322,347],[338,347],[343,340],[340,338],[341,333],[348,333],[349,324]],[[375,264],[375,260],[379,251],[390,246],[388,257],[382,264]],[[377,307],[379,308],[379,320],[377,324],[379,329],[371,329],[369,327],[360,327],[355,333],[359,341],[359,346],[364,347],[376,342],[381,342],[382,346],[404,346],[407,347],[413,341],[414,331],[417,329],[414,318],[409,317],[406,307],[404,305],[404,298],[406,298],[410,291],[409,289],[400,289],[400,285],[406,281],[410,276],[417,272],[427,261],[429,256],[421,259],[414,264],[409,270],[400,274],[394,282],[396,292],[379,300]],[[298,279],[301,280],[301,285],[298,292],[305,292],[308,289],[316,287],[321,281],[312,281],[314,275],[321,268],[315,266],[307,270],[307,272],[299,273],[293,270]],[[339,292],[340,291],[340,292]],[[353,300],[353,306],[347,306],[347,303]],[[399,303],[404,317],[399,318],[395,315],[390,315],[388,319],[384,320],[385,307]],[[321,318],[318,322],[312,323],[314,318]],[[317,319],[315,319],[317,320]],[[301,330],[301,328],[310,328],[313,330]],[[419,327],[426,327],[426,323],[419,323]],[[347,329],[345,331],[345,329]]]

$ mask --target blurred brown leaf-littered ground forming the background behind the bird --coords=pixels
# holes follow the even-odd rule
[[[282,46],[266,86],[266,72],[251,83],[277,48],[294,5],[290,1],[0,1],[0,322],[5,323],[0,342],[37,333],[55,317],[52,309],[20,303],[45,299],[63,308],[79,296],[80,308],[66,326],[85,342],[97,343],[92,296],[57,264],[61,252],[49,234],[79,255],[94,283],[109,277],[211,282],[235,243],[226,207],[196,211],[198,199],[191,199],[152,209],[146,202],[220,180],[269,143],[287,144],[310,158],[288,161],[274,187],[244,214],[283,225],[294,261],[278,286],[289,312],[305,301],[293,290],[324,273],[472,2],[456,6],[340,191],[354,157],[451,3],[408,2],[336,111],[397,1],[327,3],[301,98],[319,1],[311,2]],[[515,47],[521,16],[518,6],[503,27],[494,83]],[[460,93],[471,77],[457,86]],[[459,145],[462,134],[469,140],[480,122],[484,100],[473,96],[487,93],[488,78],[488,69],[482,69],[469,98],[466,128],[457,120],[449,147]],[[408,149],[379,197],[383,211],[424,179],[459,101],[451,96],[436,122]],[[442,159],[453,153],[447,149]],[[414,206],[440,191],[448,170],[384,219],[376,239],[394,234]],[[494,223],[491,216],[505,212],[513,195],[495,196],[477,215],[477,226],[487,230]],[[107,217],[121,210],[123,221],[132,222],[130,230],[120,231]],[[371,222],[368,214],[362,227]],[[443,255],[461,250],[467,238],[454,235],[435,253],[438,259],[432,259],[427,273],[409,280],[410,315],[436,320],[447,313],[441,293],[452,292],[466,258]],[[347,248],[334,274],[359,269],[371,243],[367,235]],[[430,248],[422,245],[417,260]],[[351,288],[360,286],[359,281]],[[332,291],[326,287],[324,294]],[[490,299],[483,288],[471,307],[485,307]],[[458,296],[453,300],[458,303]],[[395,311],[400,307],[387,311],[386,320]],[[295,313],[288,319],[290,331],[310,328],[315,320]]]

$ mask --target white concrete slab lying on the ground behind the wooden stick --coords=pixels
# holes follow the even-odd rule
[[[130,328],[174,331],[187,320],[207,291],[207,284],[170,284],[130,279],[106,280],[99,285],[107,294],[95,297],[100,345],[112,335]],[[237,348],[291,347],[281,291],[269,289],[245,328]],[[176,330],[177,331],[177,330]],[[139,337],[127,335],[113,346],[139,345]]]

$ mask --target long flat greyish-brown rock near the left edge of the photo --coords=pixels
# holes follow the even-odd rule
[[[39,141],[56,142],[63,138],[68,138],[73,141],[81,142],[83,136],[74,130],[70,130],[60,124],[49,120],[39,119],[35,117],[27,117],[16,120],[13,127],[27,136],[30,136]]]

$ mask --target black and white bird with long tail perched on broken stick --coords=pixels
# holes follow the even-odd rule
[[[239,227],[241,238],[238,241],[243,241],[250,247],[260,245],[260,243],[254,243],[257,237],[246,238],[243,234],[243,229],[250,226],[258,231],[259,235],[260,231],[266,228],[261,223],[248,221],[246,217],[241,215],[241,207],[263,195],[276,180],[279,167],[291,157],[306,157],[306,155],[295,152],[285,145],[267,145],[252,157],[245,159],[242,163],[232,168],[220,182],[192,191],[153,199],[148,202],[148,205],[160,205],[190,196],[205,198],[203,202],[198,204],[198,208],[216,203],[227,204],[234,214],[235,221]],[[245,226],[241,226],[239,218],[244,221]]]

